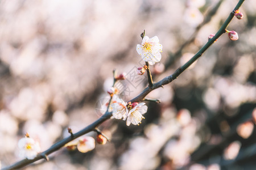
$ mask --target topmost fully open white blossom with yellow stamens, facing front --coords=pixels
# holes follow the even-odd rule
[[[142,44],[137,45],[137,52],[142,59],[148,62],[150,65],[154,65],[155,62],[159,62],[162,58],[160,52],[162,52],[163,46],[159,44],[157,36],[151,39],[148,36],[144,36]]]

